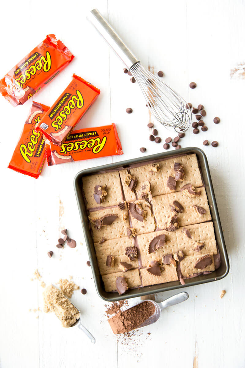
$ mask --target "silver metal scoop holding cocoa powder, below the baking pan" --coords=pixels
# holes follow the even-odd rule
[[[172,297],[167,298],[166,300],[164,300],[161,303],[157,303],[153,300],[146,299],[144,301],[141,301],[140,303],[135,304],[135,305],[138,305],[138,304],[144,303],[145,301],[149,301],[152,304],[154,304],[154,306],[155,306],[154,314],[152,314],[145,322],[141,323],[140,326],[135,328],[135,330],[138,330],[139,328],[142,328],[142,327],[151,325],[152,323],[155,323],[160,318],[160,315],[161,315],[161,312],[162,312],[163,309],[165,309],[167,307],[171,307],[171,305],[179,304],[179,303],[187,300],[188,298],[189,298],[188,293],[185,293],[185,291],[183,291],[182,293],[175,294]],[[135,305],[134,305],[134,307],[135,307]],[[130,308],[132,308],[132,307],[130,307]],[[128,308],[128,309],[130,309],[130,308]]]

